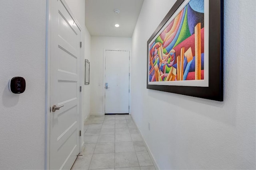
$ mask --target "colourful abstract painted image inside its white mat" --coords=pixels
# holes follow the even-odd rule
[[[150,82],[204,80],[204,0],[190,0],[149,50]]]

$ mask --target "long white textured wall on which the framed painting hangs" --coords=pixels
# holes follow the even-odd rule
[[[146,42],[174,2],[144,0],[132,36],[132,117],[160,169],[255,169],[255,0],[224,1],[224,102],[146,89]]]

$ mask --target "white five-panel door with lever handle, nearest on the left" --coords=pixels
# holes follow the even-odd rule
[[[50,169],[70,169],[80,144],[80,29],[65,2],[49,2]]]

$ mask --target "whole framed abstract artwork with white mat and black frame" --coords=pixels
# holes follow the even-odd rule
[[[147,42],[147,88],[223,101],[223,0],[177,0]]]

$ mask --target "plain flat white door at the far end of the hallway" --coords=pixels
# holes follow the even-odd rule
[[[105,113],[129,113],[129,51],[106,50]]]

